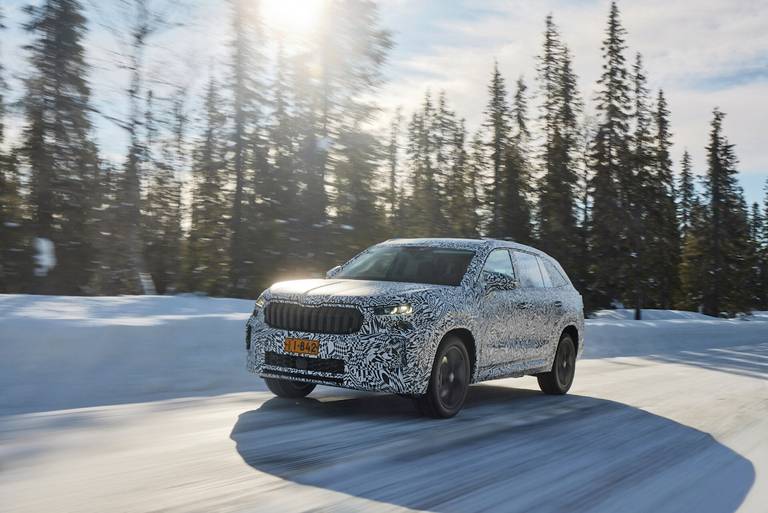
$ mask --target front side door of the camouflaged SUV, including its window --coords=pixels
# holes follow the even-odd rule
[[[497,367],[521,359],[522,340],[519,327],[522,319],[520,318],[520,311],[517,309],[521,294],[517,289],[485,289],[483,276],[487,272],[499,273],[516,279],[509,250],[499,248],[491,251],[485,260],[479,278],[481,296],[480,319],[478,321],[482,328],[484,342],[481,365],[483,367]]]

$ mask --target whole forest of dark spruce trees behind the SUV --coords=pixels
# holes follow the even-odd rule
[[[717,108],[706,162],[686,151],[673,171],[673,106],[649,89],[616,3],[593,112],[548,16],[534,81],[493,62],[478,77],[475,130],[439,91],[415,112],[378,109],[393,41],[373,1],[328,0],[297,49],[265,30],[258,2],[231,0],[227,62],[198,70],[196,101],[156,97],[143,56],[157,16],[126,3],[122,162],[95,142],[79,0],[26,9],[18,101],[0,67],[0,292],[254,298],[391,237],[487,236],[557,258],[590,308],[768,308],[768,198],[746,204]],[[6,141],[11,109],[23,131]],[[386,133],[372,128],[382,116]]]

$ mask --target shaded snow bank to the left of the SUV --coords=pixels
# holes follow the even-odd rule
[[[0,295],[0,413],[261,389],[253,301]]]

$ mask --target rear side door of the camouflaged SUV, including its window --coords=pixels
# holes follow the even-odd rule
[[[546,333],[551,329],[547,324],[547,289],[536,255],[514,250],[512,256],[518,280],[515,308],[520,318],[520,352],[526,361],[534,361],[542,358]]]

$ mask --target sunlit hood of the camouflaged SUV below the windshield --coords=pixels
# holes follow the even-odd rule
[[[272,297],[286,299],[306,298],[378,298],[403,296],[433,289],[446,288],[443,285],[424,283],[403,283],[392,281],[313,279],[293,280],[275,283],[269,288]]]

